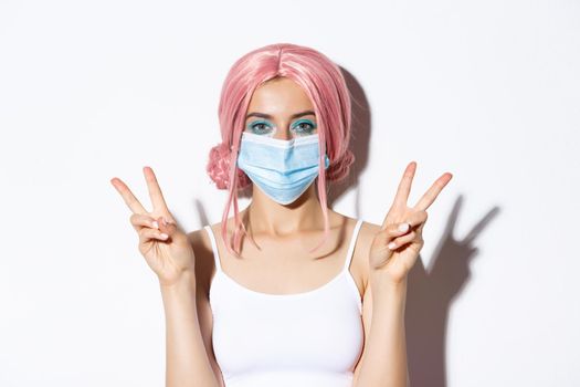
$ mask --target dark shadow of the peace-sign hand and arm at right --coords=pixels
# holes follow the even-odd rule
[[[467,284],[471,260],[478,253],[475,238],[492,221],[492,208],[463,240],[453,237],[463,202],[454,203],[429,272],[421,258],[409,273],[405,306],[405,338],[409,378],[413,387],[445,387],[447,321],[451,304]]]

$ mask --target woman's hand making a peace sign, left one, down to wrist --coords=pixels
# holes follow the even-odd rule
[[[154,207],[152,212],[145,210],[119,178],[114,177],[110,184],[133,212],[130,223],[139,236],[139,251],[147,264],[157,274],[161,285],[172,285],[184,275],[193,278],[193,248],[188,236],[169,212],[152,169],[144,167],[143,171]]]

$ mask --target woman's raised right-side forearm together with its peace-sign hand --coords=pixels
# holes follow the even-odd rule
[[[452,178],[450,172],[443,174],[415,206],[409,207],[415,168],[414,161],[407,166],[370,247],[369,284],[375,300],[368,343],[355,379],[357,387],[404,387],[409,383],[404,332],[408,274],[424,244],[426,209]]]

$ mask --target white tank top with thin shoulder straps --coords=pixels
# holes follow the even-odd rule
[[[351,387],[363,345],[362,301],[349,270],[355,226],[342,270],[307,292],[250,290],[221,269],[208,232],[215,275],[210,285],[213,352],[226,387]]]

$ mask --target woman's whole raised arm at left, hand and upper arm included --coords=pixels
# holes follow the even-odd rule
[[[211,307],[208,296],[208,261],[199,249],[200,232],[186,236],[167,208],[150,167],[144,167],[152,212],[145,210],[129,187],[110,179],[133,215],[139,251],[159,278],[166,317],[166,386],[223,387],[211,346]],[[196,251],[199,250],[199,251]]]

